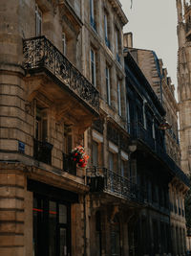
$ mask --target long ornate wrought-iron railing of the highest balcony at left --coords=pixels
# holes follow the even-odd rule
[[[95,86],[45,36],[24,39],[23,53],[26,71],[44,69],[50,72],[54,78],[66,86],[66,89],[71,90],[98,111],[99,93]]]

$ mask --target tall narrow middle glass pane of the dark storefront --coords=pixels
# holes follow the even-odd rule
[[[56,253],[56,202],[49,202],[49,256]]]

